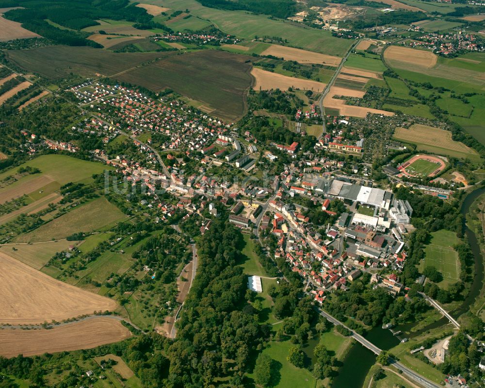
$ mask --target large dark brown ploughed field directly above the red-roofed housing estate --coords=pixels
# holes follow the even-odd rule
[[[191,99],[203,101],[205,107],[200,107],[201,110],[221,118],[235,119],[246,112],[246,91],[252,83],[251,64],[246,63],[248,59],[248,56],[225,51],[197,51],[136,68],[116,79],[154,91],[171,88]]]

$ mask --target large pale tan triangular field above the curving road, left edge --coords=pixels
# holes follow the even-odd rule
[[[0,253],[0,322],[41,324],[114,310],[116,302],[77,288]]]

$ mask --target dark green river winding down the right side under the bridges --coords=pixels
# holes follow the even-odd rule
[[[463,201],[460,213],[465,219],[467,213],[469,212],[472,203],[481,195],[485,193],[485,187],[478,188],[471,193],[469,193],[465,200]],[[465,235],[468,237],[471,251],[473,252],[473,259],[475,262],[475,273],[473,277],[473,283],[470,287],[468,296],[463,300],[455,310],[451,312],[453,318],[458,318],[461,314],[469,310],[469,306],[475,302],[475,299],[480,295],[480,291],[483,287],[484,281],[484,260],[478,245],[478,240],[473,231],[471,231],[465,223],[463,225]],[[421,330],[412,333],[411,328],[415,325],[406,324],[400,325],[395,330],[402,330],[405,337],[414,337],[423,333],[427,330],[434,329],[445,324],[448,320],[446,318],[441,318],[440,320],[429,324],[428,326],[422,328]],[[389,350],[399,343],[399,339],[393,337],[391,332],[387,329],[382,329],[377,326],[374,327],[366,335],[366,338],[370,340],[374,345],[378,346],[383,350]],[[349,353],[345,356],[343,360],[343,365],[339,369],[339,375],[333,380],[331,388],[360,388],[362,387],[369,369],[375,364],[375,354],[373,354],[367,348],[364,348],[359,343],[352,345]]]

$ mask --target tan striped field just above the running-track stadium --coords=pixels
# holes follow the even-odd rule
[[[421,143],[459,152],[477,153],[465,144],[454,141],[450,131],[422,124],[413,124],[409,129],[398,127],[394,132],[394,137],[411,143]]]

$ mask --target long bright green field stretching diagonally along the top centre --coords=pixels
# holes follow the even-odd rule
[[[343,56],[352,44],[351,40],[333,37],[330,31],[304,27],[288,20],[271,19],[266,15],[204,7],[195,0],[146,0],[144,2],[175,10],[188,9],[193,17],[210,20],[223,32],[246,39],[253,39],[255,35],[278,36],[287,39],[289,45],[294,47],[339,56]]]

